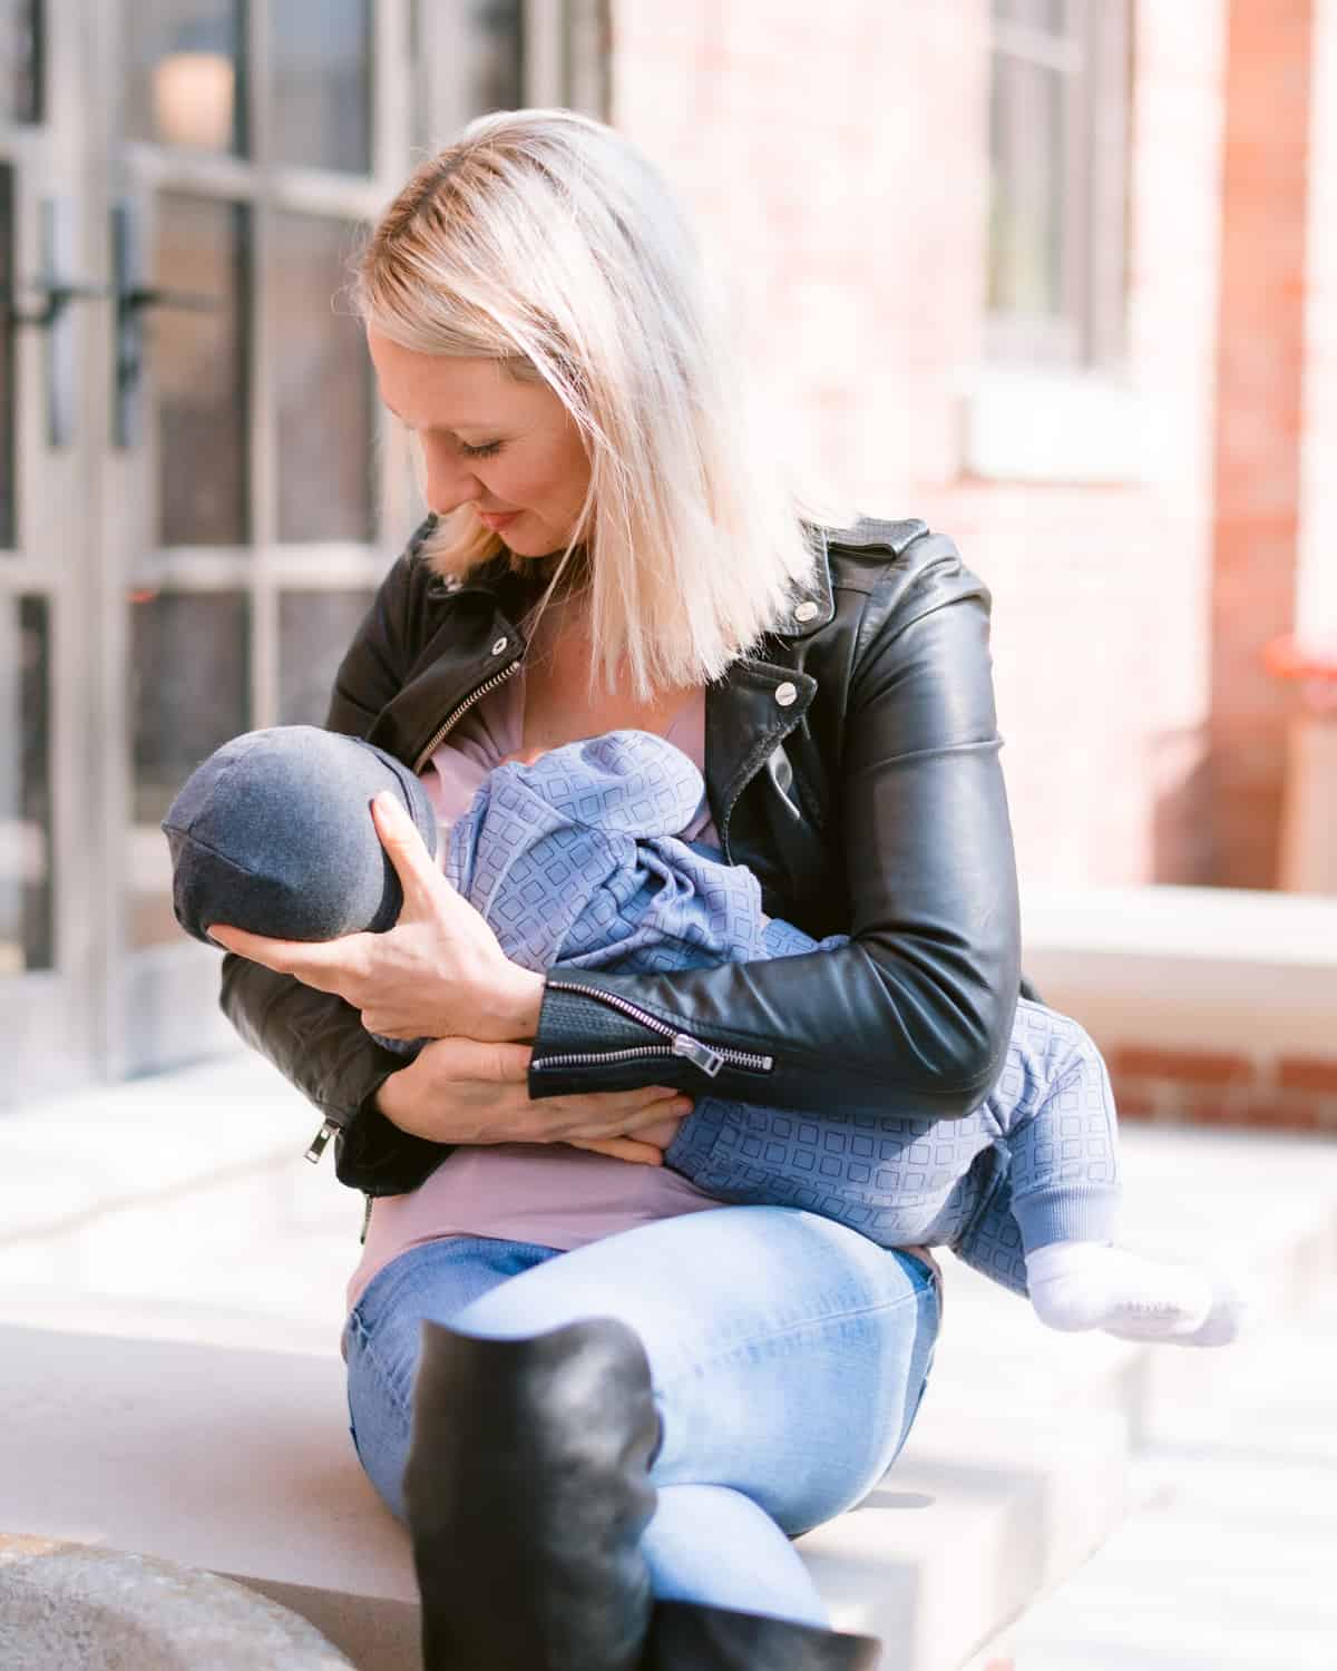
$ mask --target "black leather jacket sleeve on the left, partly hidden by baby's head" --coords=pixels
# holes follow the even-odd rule
[[[423,533],[386,575],[339,667],[329,730],[364,735],[399,688],[418,592],[411,565]],[[338,1128],[334,1165],[343,1183],[368,1195],[399,1195],[416,1188],[448,1153],[399,1131],[374,1106],[376,1091],[404,1061],[379,1046],[358,1011],[336,994],[227,952],[221,1004],[242,1039]]]

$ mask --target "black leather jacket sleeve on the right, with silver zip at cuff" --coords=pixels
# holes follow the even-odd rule
[[[663,1083],[941,1120],[989,1093],[1019,981],[989,598],[951,541],[923,546],[886,566],[854,647],[834,795],[849,946],[663,974],[553,969],[531,1096]]]

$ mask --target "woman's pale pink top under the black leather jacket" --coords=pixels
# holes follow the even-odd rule
[[[441,854],[450,825],[468,809],[488,772],[521,749],[523,719],[521,668],[470,709],[450,744],[423,769],[423,787],[441,824]],[[677,714],[665,737],[704,770],[704,690]],[[719,846],[705,795],[680,834],[684,841]],[[399,1253],[438,1237],[500,1237],[565,1252],[652,1218],[719,1205],[667,1166],[642,1166],[567,1143],[461,1145],[409,1195],[373,1201],[348,1303],[354,1307],[376,1272]]]

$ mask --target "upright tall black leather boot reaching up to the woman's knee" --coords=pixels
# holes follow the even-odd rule
[[[426,1671],[635,1671],[658,1444],[640,1338],[423,1323],[404,1499]]]

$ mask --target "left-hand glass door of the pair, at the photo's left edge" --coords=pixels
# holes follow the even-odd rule
[[[100,1054],[79,368],[105,297],[80,212],[80,74],[67,0],[0,3],[0,1105],[87,1079]]]

